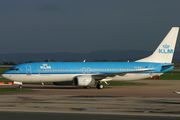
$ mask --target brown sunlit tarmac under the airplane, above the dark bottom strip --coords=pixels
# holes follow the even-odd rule
[[[2,112],[180,117],[180,80],[140,80],[141,85],[84,89],[24,84],[31,92],[0,93]],[[16,85],[0,88],[18,88]]]

